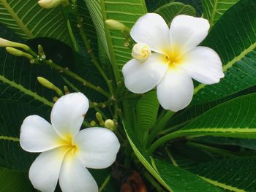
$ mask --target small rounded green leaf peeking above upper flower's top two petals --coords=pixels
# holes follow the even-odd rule
[[[156,13],[161,15],[165,22],[170,26],[170,22],[176,15],[192,15],[195,16],[195,9],[190,5],[181,4],[178,2],[172,2],[169,4],[165,4],[162,7],[159,7],[155,10]]]

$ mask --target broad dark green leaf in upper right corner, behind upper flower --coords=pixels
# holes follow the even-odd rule
[[[215,85],[196,85],[192,104],[206,103],[256,85],[256,1],[239,1],[225,12],[203,46],[216,50],[225,77]]]

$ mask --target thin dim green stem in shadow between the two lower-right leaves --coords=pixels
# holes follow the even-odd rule
[[[190,147],[196,147],[200,150],[207,150],[209,152],[217,153],[219,155],[225,155],[227,157],[237,157],[237,155],[235,153],[232,153],[229,150],[223,150],[223,149],[219,149],[219,148],[216,148],[216,147],[203,145],[203,144],[200,144],[200,143],[197,143],[197,142],[187,142],[187,145],[190,146]]]

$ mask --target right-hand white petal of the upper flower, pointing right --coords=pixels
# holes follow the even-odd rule
[[[208,47],[195,47],[187,52],[181,67],[193,79],[204,84],[217,83],[224,77],[219,55]]]

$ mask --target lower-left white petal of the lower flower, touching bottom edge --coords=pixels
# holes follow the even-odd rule
[[[43,152],[36,158],[29,169],[29,180],[34,188],[44,192],[54,191],[65,153],[65,147],[59,147]]]

